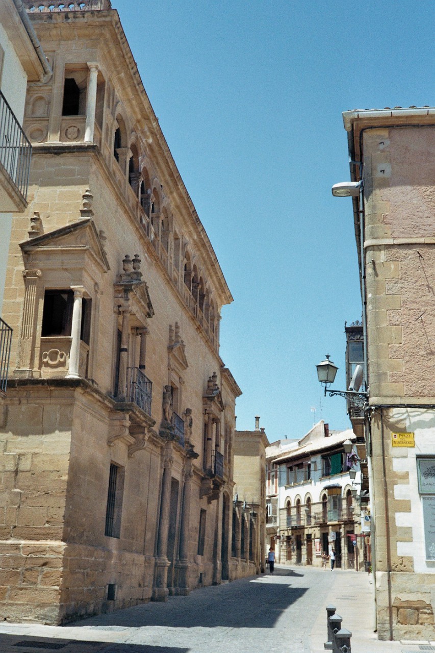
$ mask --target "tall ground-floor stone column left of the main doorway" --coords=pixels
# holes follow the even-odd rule
[[[157,557],[154,567],[153,601],[166,601],[169,594],[167,558],[169,512],[170,512],[170,486],[172,481],[172,443],[167,442],[163,459],[163,479],[161,483],[160,522],[157,537]]]

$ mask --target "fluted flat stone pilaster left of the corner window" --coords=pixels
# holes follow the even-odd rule
[[[37,323],[37,299],[39,280],[42,277],[40,270],[24,270],[24,306],[23,320],[20,333],[18,350],[18,370],[16,375],[31,377],[35,367],[35,335]]]

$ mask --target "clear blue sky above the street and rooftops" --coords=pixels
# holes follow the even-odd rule
[[[348,428],[315,372],[330,353],[345,389],[344,323],[361,319],[351,200],[330,192],[349,179],[342,112],[433,106],[432,1],[112,6],[234,296],[237,427]]]

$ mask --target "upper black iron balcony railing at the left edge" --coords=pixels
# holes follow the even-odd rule
[[[0,91],[0,163],[24,199],[27,197],[31,144]]]

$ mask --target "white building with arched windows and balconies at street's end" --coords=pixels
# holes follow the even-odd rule
[[[278,471],[279,559],[285,564],[321,565],[334,549],[336,566],[364,569],[370,560],[368,498],[361,494],[361,468],[351,429],[329,431],[320,421],[289,451],[271,462]],[[354,479],[351,478],[355,476]],[[277,556],[278,558],[278,556]]]

